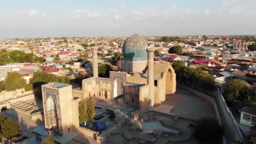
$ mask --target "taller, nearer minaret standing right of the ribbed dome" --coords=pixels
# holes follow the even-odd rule
[[[154,106],[154,52],[155,48],[147,49],[147,84],[149,85],[149,108]]]

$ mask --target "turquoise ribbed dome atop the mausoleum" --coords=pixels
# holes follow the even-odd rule
[[[131,35],[123,43],[123,57],[128,61],[147,60],[147,41],[138,34]]]

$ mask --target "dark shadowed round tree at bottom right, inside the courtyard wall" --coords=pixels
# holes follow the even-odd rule
[[[215,117],[202,117],[195,126],[195,138],[201,141],[221,142],[223,128]]]

